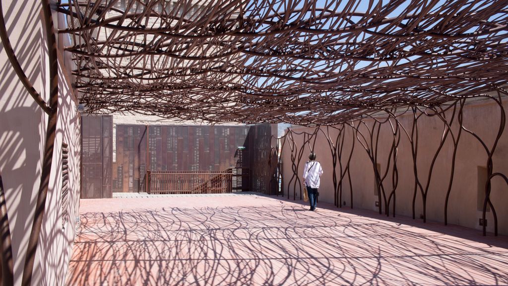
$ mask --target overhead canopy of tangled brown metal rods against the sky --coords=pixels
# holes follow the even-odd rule
[[[506,1],[70,1],[88,112],[331,125],[506,83]]]

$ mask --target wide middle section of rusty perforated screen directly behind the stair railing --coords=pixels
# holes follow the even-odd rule
[[[147,130],[145,125],[117,125],[113,191],[145,191],[147,169],[223,171],[237,165],[248,167],[248,163],[241,162],[244,158],[237,149],[245,145],[249,129],[249,126],[166,125],[148,126]]]

